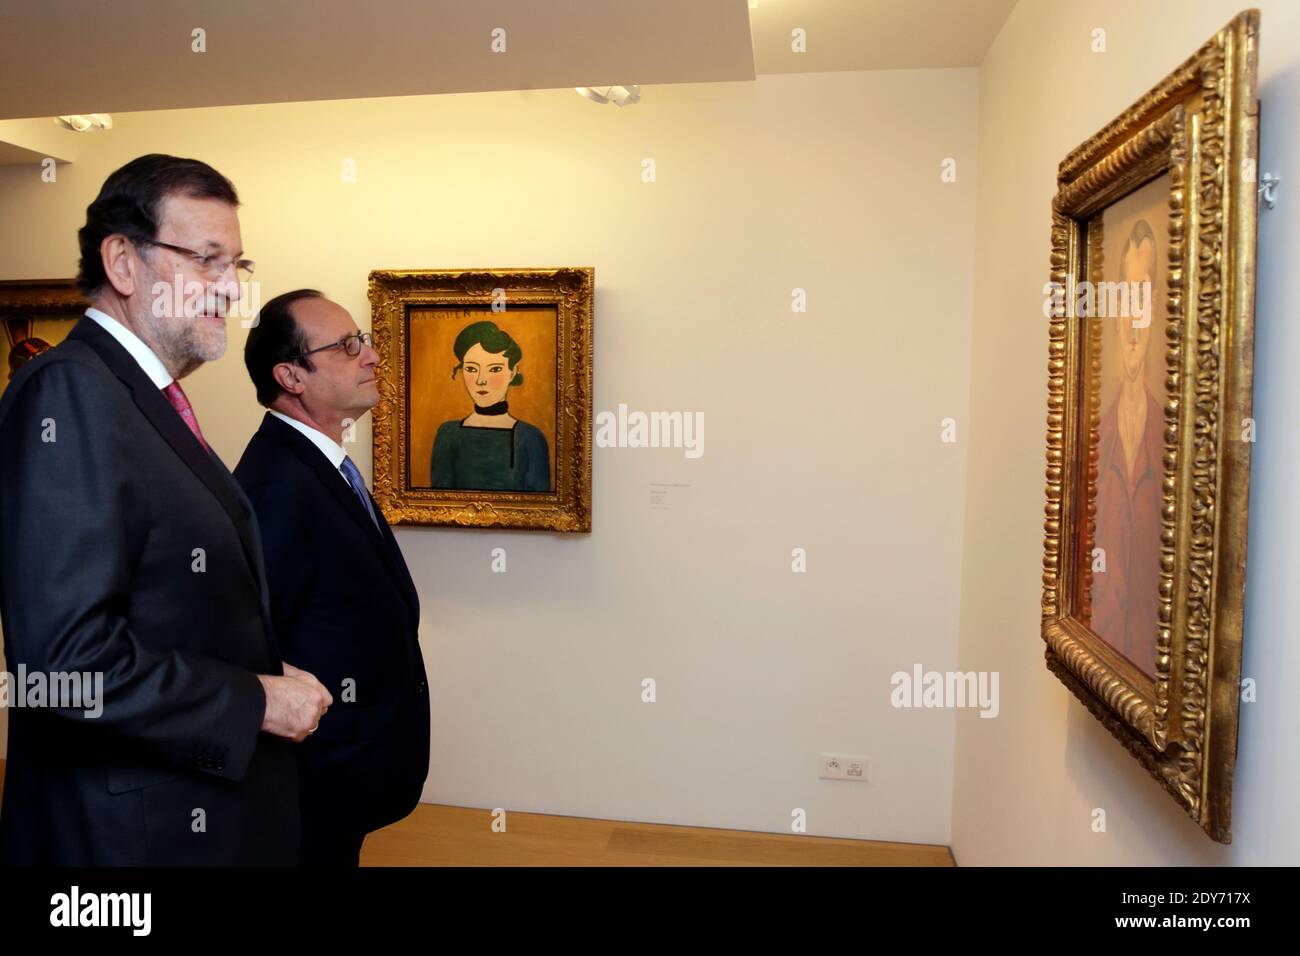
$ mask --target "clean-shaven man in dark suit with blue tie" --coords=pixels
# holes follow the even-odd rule
[[[380,399],[378,362],[369,333],[312,289],[268,302],[244,347],[268,412],[235,479],[257,511],[285,659],[335,700],[298,749],[304,866],[356,866],[429,771],[420,600],[344,449]]]

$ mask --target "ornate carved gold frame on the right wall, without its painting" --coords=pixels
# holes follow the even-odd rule
[[[1061,163],[1057,291],[1045,308],[1046,665],[1219,843],[1231,842],[1254,438],[1258,26],[1257,10],[1240,13]],[[1148,674],[1091,627],[1093,572],[1105,570],[1093,549],[1101,326],[1096,300],[1089,311],[1078,290],[1102,274],[1106,207],[1165,176],[1164,480]]]

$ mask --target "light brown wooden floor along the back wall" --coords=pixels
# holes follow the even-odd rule
[[[0,760],[0,800],[4,761]],[[420,804],[370,834],[363,866],[953,866],[948,847],[837,840],[746,830],[506,814]]]

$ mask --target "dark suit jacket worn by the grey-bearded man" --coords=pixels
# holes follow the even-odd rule
[[[91,319],[0,402],[0,614],[10,672],[104,682],[98,718],[10,709],[0,862],[296,862],[292,744],[260,731],[281,657],[256,522]]]

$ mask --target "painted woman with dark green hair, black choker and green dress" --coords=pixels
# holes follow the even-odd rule
[[[456,365],[473,410],[438,427],[429,457],[433,488],[550,492],[550,447],[540,428],[508,410],[507,393],[524,384],[519,343],[495,323],[477,321],[456,336]]]

